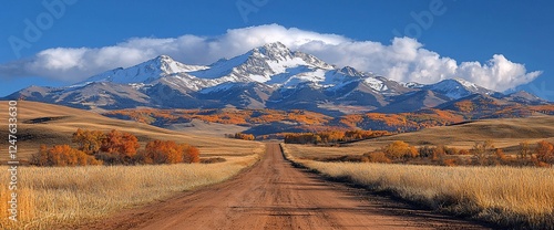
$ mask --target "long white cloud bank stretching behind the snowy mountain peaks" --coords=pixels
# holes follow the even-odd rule
[[[527,73],[523,64],[513,63],[501,54],[493,55],[483,64],[458,63],[409,38],[394,38],[390,44],[382,44],[267,24],[227,30],[218,36],[133,38],[113,46],[49,49],[27,60],[0,64],[0,75],[39,75],[79,82],[93,74],[129,67],[161,54],[187,64],[211,64],[220,58],[233,58],[277,41],[331,64],[349,65],[402,82],[429,84],[460,77],[491,90],[505,91],[529,83],[542,73]]]

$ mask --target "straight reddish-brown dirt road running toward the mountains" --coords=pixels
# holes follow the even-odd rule
[[[294,168],[278,144],[233,180],[84,229],[484,229]]]

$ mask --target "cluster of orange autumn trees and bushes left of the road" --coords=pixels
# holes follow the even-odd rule
[[[41,145],[30,159],[35,166],[85,166],[85,165],[140,165],[198,163],[198,148],[173,140],[154,139],[140,149],[138,138],[130,133],[113,129],[101,130],[79,128],[72,135],[70,145]]]

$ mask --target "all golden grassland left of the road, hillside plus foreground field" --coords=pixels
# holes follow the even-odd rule
[[[94,113],[37,102],[18,102],[18,157],[25,160],[41,144],[70,144],[78,128],[129,132],[140,143],[174,140],[196,146],[201,158],[224,157],[209,165],[158,166],[20,167],[18,205],[20,221],[13,226],[7,212],[0,213],[0,229],[59,229],[110,216],[122,209],[163,200],[178,192],[226,180],[252,166],[264,153],[255,142],[198,136],[167,130],[135,122],[107,118]],[[8,102],[0,102],[0,121],[8,121]],[[37,118],[53,118],[33,122]],[[0,135],[7,136],[8,129]],[[8,149],[8,142],[0,142]],[[7,155],[0,157],[1,161]],[[7,210],[9,172],[0,168],[0,202]],[[10,226],[12,224],[12,226]]]

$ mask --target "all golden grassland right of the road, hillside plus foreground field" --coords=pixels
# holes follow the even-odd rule
[[[496,146],[511,149],[523,140],[552,142],[552,117],[483,121],[462,125],[461,128],[430,128],[359,142],[346,147],[283,146],[287,158],[304,167],[375,191],[391,192],[439,211],[504,228],[554,229],[553,167],[441,167],[308,160],[314,157],[360,155],[393,140],[413,145],[428,140],[435,145],[469,149],[473,140],[493,139]],[[494,130],[495,125],[501,125],[499,128],[503,130]],[[527,135],[529,138],[525,138]]]

